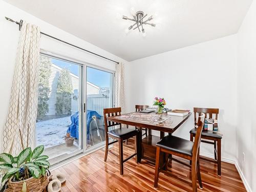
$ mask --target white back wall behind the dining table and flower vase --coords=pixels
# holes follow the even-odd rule
[[[237,35],[165,52],[130,62],[126,73],[126,101],[129,111],[135,104],[153,104],[164,97],[167,108],[219,108],[223,133],[222,157],[235,160],[236,154],[236,54]],[[174,135],[189,139],[194,126],[191,116]],[[213,146],[202,143],[201,153],[213,155]]]

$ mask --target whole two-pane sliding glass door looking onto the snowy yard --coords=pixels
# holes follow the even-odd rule
[[[36,145],[45,145],[50,163],[102,146],[114,72],[46,54],[39,67]]]

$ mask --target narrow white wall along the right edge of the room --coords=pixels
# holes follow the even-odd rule
[[[237,160],[256,191],[256,2],[253,1],[238,32]],[[245,154],[245,158],[243,157]]]

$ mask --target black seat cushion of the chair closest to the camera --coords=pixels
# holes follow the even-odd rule
[[[169,151],[192,156],[194,142],[168,135],[161,139],[156,145]]]

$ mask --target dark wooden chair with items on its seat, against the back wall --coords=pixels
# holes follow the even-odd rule
[[[204,113],[205,118],[213,118],[213,115],[215,115],[214,118],[218,119],[219,109],[194,108],[195,122],[197,119],[197,114],[200,114],[200,113]],[[208,114],[208,116],[207,116],[207,114]],[[190,133],[190,141],[193,141],[194,137],[196,136],[196,132],[197,132],[196,128],[190,130],[190,132],[189,132]],[[208,143],[208,144],[214,145],[214,160],[205,158],[202,156],[200,158],[217,163],[218,176],[221,176],[221,139],[222,139],[222,135],[218,132],[203,130],[201,138],[202,138],[203,143]],[[207,140],[205,140],[205,139],[207,139]]]

